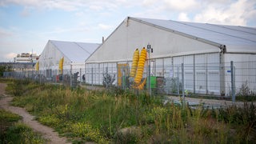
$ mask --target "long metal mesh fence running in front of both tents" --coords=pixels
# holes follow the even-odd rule
[[[232,98],[233,101],[236,96],[256,96],[256,62],[146,65],[143,69],[142,82],[146,78],[143,90],[154,95],[204,95]],[[134,89],[130,70],[129,64],[116,63],[104,67],[63,70],[63,74],[59,74],[58,70],[26,70],[8,72],[4,76],[72,87],[83,83]]]

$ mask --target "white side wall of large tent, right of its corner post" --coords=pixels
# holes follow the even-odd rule
[[[236,93],[239,93],[242,85],[247,85],[250,90],[256,93],[256,54],[225,54],[226,94],[231,93],[231,61],[234,62]]]

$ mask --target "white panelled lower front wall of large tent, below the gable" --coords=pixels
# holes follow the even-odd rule
[[[155,58],[152,59],[151,74],[164,78],[182,78],[181,63],[185,66],[185,90],[199,94],[220,94],[220,69],[219,53],[193,54],[186,56]],[[117,65],[118,63],[131,62],[110,62],[86,64],[86,82],[94,85],[102,85],[103,73],[108,70],[110,75],[115,75],[117,86]],[[147,62],[146,62],[147,63]],[[153,65],[152,65],[153,63]],[[93,69],[92,69],[92,66]],[[129,67],[131,69],[131,67]],[[92,73],[92,70],[93,73]],[[93,75],[91,75],[93,74]],[[147,64],[144,68],[143,78],[147,74]],[[92,81],[93,79],[93,81]]]

